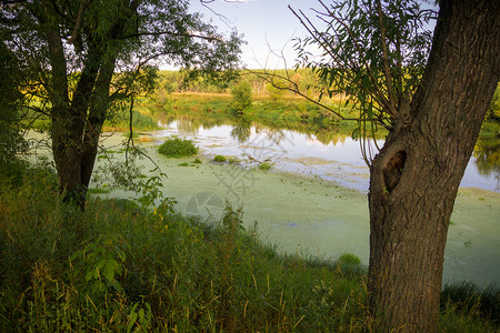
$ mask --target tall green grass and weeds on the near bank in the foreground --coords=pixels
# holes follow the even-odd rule
[[[361,332],[366,268],[283,254],[226,206],[202,223],[166,200],[64,204],[57,178],[0,180],[2,332]],[[487,296],[488,295],[488,296]],[[498,290],[444,289],[440,329],[496,332]]]

